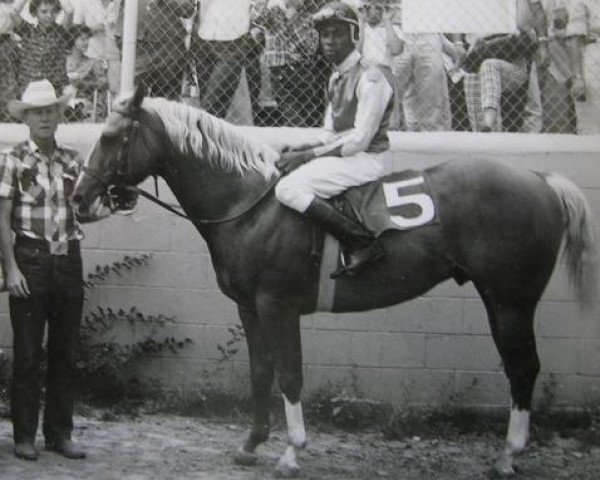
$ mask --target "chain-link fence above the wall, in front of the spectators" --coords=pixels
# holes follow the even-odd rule
[[[67,1],[65,83],[78,89],[67,118],[102,121],[119,90],[128,0]],[[0,3],[0,15],[11,3],[23,2]],[[139,0],[136,81],[237,124],[320,126],[331,66],[311,16],[324,3]],[[347,3],[361,19],[364,61],[393,73],[394,129],[599,133],[600,0]],[[521,34],[503,33],[515,15]],[[23,17],[35,22],[36,12],[26,5]],[[29,43],[18,23],[0,25],[3,121],[23,88]]]

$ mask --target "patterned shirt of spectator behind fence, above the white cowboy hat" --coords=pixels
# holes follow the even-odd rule
[[[69,53],[69,33],[61,25],[48,28],[22,22],[15,29],[21,37],[21,59],[18,81],[21,88],[34,80],[48,79],[60,95],[68,85],[67,55]]]

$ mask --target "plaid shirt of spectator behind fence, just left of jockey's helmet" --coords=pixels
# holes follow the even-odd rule
[[[252,24],[265,31],[264,61],[267,67],[282,67],[309,62],[319,46],[310,13],[300,9],[289,19],[281,8],[267,8],[266,1],[255,2],[250,9]]]

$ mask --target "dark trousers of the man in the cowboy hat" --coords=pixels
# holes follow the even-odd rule
[[[68,255],[45,248],[15,246],[31,294],[9,298],[14,334],[11,416],[15,442],[33,442],[40,408],[40,366],[48,323],[48,371],[43,432],[46,441],[68,439],[73,429],[73,373],[83,307],[82,262],[78,244]]]

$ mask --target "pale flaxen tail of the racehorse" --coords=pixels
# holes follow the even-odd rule
[[[569,280],[584,304],[591,304],[598,293],[598,256],[592,211],[583,192],[570,180],[549,173],[546,183],[561,199],[565,215],[563,258]]]

